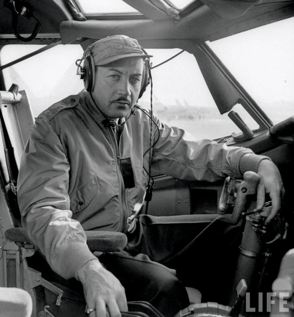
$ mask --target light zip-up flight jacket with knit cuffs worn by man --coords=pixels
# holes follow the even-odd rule
[[[186,180],[240,178],[247,170],[257,171],[266,158],[250,149],[196,140],[153,119],[150,148],[149,111],[137,107],[117,137],[85,90],[36,118],[22,155],[18,203],[24,229],[62,277],[76,277],[83,264],[96,259],[84,230],[128,230],[144,203],[149,151],[153,175]],[[130,188],[124,161],[131,163]]]

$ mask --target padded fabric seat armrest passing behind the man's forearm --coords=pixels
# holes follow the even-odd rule
[[[86,230],[85,233],[87,245],[91,252],[119,252],[127,244],[127,236],[122,232]],[[15,243],[33,244],[23,228],[7,229],[5,237]]]

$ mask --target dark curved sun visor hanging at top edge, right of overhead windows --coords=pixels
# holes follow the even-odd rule
[[[260,0],[201,0],[216,14],[226,19],[242,16],[252,6],[259,4]]]

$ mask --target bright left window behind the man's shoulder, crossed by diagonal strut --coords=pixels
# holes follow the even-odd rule
[[[43,45],[6,45],[0,51],[1,65],[40,49]],[[6,89],[12,83],[26,90],[34,116],[53,103],[76,94],[83,81],[76,76],[75,61],[83,55],[78,44],[58,45],[48,51],[3,69]]]

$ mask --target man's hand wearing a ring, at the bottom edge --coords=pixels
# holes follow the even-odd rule
[[[88,308],[94,308],[90,317],[121,316],[120,311],[127,311],[125,289],[118,279],[106,270],[99,260],[85,263],[78,271],[78,279],[84,287]]]

